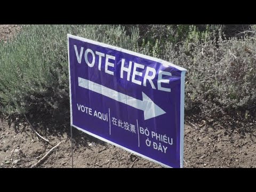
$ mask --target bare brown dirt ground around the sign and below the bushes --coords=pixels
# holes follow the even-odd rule
[[[0,25],[0,40],[12,37],[15,28],[20,26]],[[71,167],[68,119],[39,119],[44,118],[0,118],[0,167],[31,167],[60,141],[38,167]],[[37,137],[30,123],[49,142]],[[255,125],[253,120],[186,117],[184,167],[256,167]],[[75,128],[73,138],[74,167],[162,167]]]

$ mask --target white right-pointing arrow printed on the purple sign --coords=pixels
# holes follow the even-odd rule
[[[136,98],[130,97],[129,95],[119,93],[115,90],[109,89],[108,87],[105,87],[103,85],[89,81],[89,80],[81,78],[81,77],[78,77],[78,85],[85,89],[89,89],[96,93],[105,95],[106,97],[114,99],[118,102],[122,102],[122,103],[129,105],[131,107],[134,107],[136,109],[143,110],[145,120],[153,118],[153,117],[157,117],[159,115],[163,115],[166,113],[163,109],[158,107],[143,92],[142,92],[142,101],[141,101]]]

